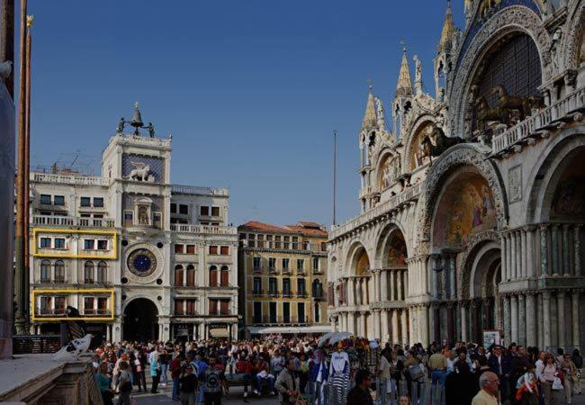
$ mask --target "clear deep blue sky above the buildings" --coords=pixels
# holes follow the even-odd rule
[[[463,0],[453,6],[461,27]],[[337,129],[347,220],[359,212],[366,80],[389,112],[405,40],[432,91],[445,10],[439,0],[29,0],[31,164],[79,151],[97,173],[139,101],[145,122],[173,134],[172,181],[228,186],[230,222],[330,224]]]

